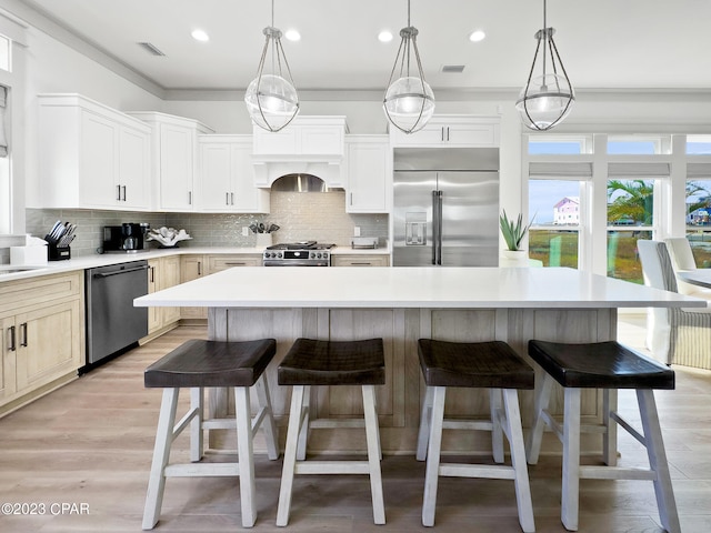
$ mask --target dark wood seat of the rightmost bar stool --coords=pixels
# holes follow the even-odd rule
[[[530,341],[529,355],[562,386],[674,389],[674,372],[617,342]]]

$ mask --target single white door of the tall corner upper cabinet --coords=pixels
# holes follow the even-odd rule
[[[160,207],[193,210],[193,132],[188,128],[160,124]]]

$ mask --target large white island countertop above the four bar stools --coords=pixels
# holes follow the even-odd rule
[[[241,266],[134,300],[209,308],[647,308],[705,301],[573,269]]]

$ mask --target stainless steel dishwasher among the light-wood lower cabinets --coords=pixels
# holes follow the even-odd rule
[[[148,308],[133,299],[148,293],[148,261],[87,269],[87,372],[136,345],[148,334]]]

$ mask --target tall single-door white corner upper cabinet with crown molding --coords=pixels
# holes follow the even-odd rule
[[[131,112],[152,131],[153,208],[194,211],[199,204],[198,135],[213,131],[197,120],[156,112]]]

